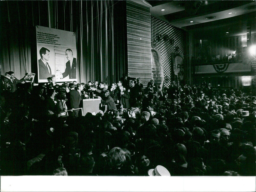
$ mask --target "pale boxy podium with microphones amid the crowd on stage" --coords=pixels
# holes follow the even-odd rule
[[[101,99],[83,99],[83,112],[84,116],[86,113],[93,113],[96,114],[100,112],[100,103]]]

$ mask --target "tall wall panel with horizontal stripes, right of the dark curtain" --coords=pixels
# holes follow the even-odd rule
[[[140,77],[145,85],[152,77],[150,10],[143,5],[127,1],[128,72]]]

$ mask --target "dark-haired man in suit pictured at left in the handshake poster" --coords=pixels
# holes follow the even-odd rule
[[[39,51],[41,59],[38,60],[39,79],[47,79],[52,76],[52,69],[47,61],[49,61],[50,50],[42,47]]]

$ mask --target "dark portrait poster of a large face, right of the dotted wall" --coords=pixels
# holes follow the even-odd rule
[[[171,53],[174,81],[180,85],[184,78],[184,57],[182,53]]]

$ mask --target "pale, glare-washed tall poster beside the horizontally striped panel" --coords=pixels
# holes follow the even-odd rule
[[[152,65],[152,78],[155,84],[163,88],[164,84],[164,69],[162,65],[161,52],[151,49],[151,65]]]

